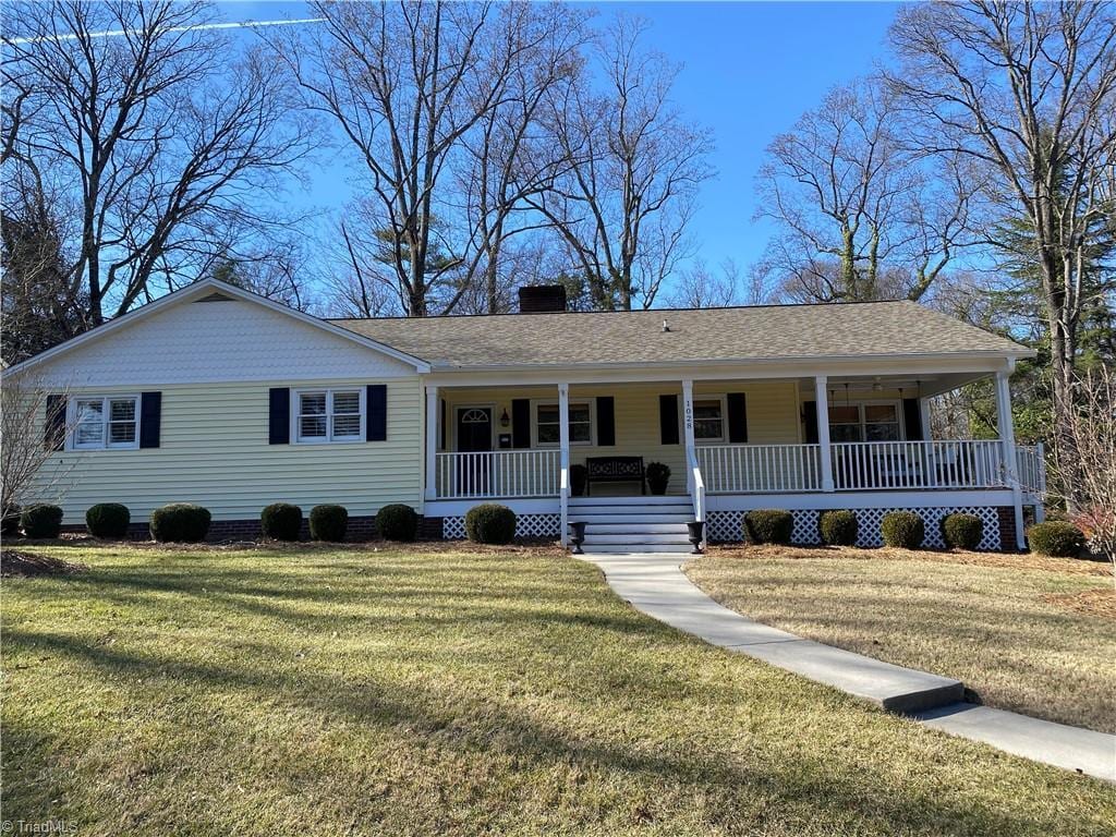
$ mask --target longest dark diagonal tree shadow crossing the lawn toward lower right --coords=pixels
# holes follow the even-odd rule
[[[766,810],[760,816],[764,819],[778,819],[778,808],[792,807],[790,804],[793,802],[805,804],[818,816],[835,822],[847,822],[850,811],[866,811],[865,816],[870,821],[876,821],[877,826],[886,824],[895,833],[968,834],[987,830],[991,834],[1022,835],[1057,829],[1055,822],[1030,821],[991,807],[981,807],[978,799],[960,790],[942,792],[939,782],[931,781],[925,783],[925,790],[916,790],[903,777],[891,775],[886,763],[877,769],[872,753],[863,753],[863,761],[854,756],[835,764],[831,759],[801,750],[795,750],[793,758],[788,760],[781,750],[764,747],[760,751],[754,742],[748,741],[727,740],[722,742],[723,749],[696,747],[696,741],[680,735],[677,729],[670,741],[658,738],[643,740],[638,733],[633,735],[632,732],[641,729],[642,719],[637,716],[617,719],[620,721],[617,728],[610,727],[609,720],[597,721],[588,725],[588,732],[574,734],[560,727],[569,723],[568,706],[567,712],[558,716],[562,720],[550,722],[538,715],[538,708],[531,710],[511,705],[500,695],[454,695],[449,687],[441,685],[422,687],[414,683],[389,684],[371,679],[353,681],[307,671],[283,673],[246,666],[232,668],[141,656],[74,636],[35,631],[9,629],[7,641],[49,648],[56,654],[90,664],[103,674],[121,679],[122,683],[146,684],[128,686],[134,690],[154,690],[158,681],[174,681],[190,695],[187,702],[202,699],[198,689],[241,690],[257,695],[259,701],[273,706],[277,712],[282,712],[285,704],[292,712],[309,709],[323,724],[348,724],[354,728],[354,734],[367,734],[366,728],[373,727],[396,730],[397,734],[408,740],[421,738],[424,747],[433,747],[448,756],[487,757],[497,753],[511,760],[512,764],[507,767],[509,770],[540,768],[552,771],[575,766],[585,771],[603,771],[628,779],[635,776],[638,781],[646,780],[650,788],[672,788],[676,791],[681,785],[692,789],[692,793],[701,795],[703,816],[710,827],[739,827],[739,797],[748,793],[763,800]],[[631,685],[638,687],[635,683]],[[733,696],[737,702],[748,700],[747,693],[739,687],[729,691],[730,694],[719,696],[716,702],[729,703]],[[132,696],[133,700],[143,698],[143,694]],[[590,720],[588,713],[591,709],[574,709],[578,712],[574,720],[581,721],[579,729],[587,729],[585,721]],[[837,729],[843,720],[841,713],[864,710],[845,706],[829,711],[836,712],[833,723],[821,729]],[[580,716],[581,713],[584,716]],[[902,722],[896,720],[893,723]],[[684,723],[682,731],[685,732]],[[227,738],[222,738],[222,747],[246,745],[244,733],[249,730],[229,732]],[[8,782],[19,782],[21,777],[35,777],[47,771],[51,751],[49,737],[36,737],[18,724],[7,729],[6,733],[9,735],[7,745],[13,748],[11,752],[17,753],[19,764],[16,776],[8,776]],[[747,733],[740,734],[747,738]],[[828,733],[819,730],[814,734]],[[904,738],[904,745],[920,745],[917,733]],[[926,740],[932,741],[932,738]],[[927,749],[926,772],[934,771],[932,753],[935,751],[936,747]],[[748,756],[741,756],[741,752]],[[454,759],[450,761],[454,762]],[[294,766],[283,767],[292,773],[296,771]],[[7,766],[4,772],[9,773]],[[291,778],[280,775],[273,780],[282,782]],[[183,777],[183,780],[189,779]],[[464,777],[462,780],[465,780]],[[58,792],[65,790],[60,788]],[[577,792],[576,788],[566,790]],[[406,783],[401,785],[396,792],[402,795],[398,802],[405,804]],[[483,793],[484,789],[479,788],[478,792]],[[31,796],[42,798],[39,792]],[[507,805],[504,799],[493,800],[494,805],[501,802]],[[648,816],[653,819],[653,811]]]

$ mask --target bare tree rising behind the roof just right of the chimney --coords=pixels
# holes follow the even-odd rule
[[[552,106],[569,172],[535,205],[555,224],[597,308],[650,307],[687,254],[698,186],[712,144],[671,103],[679,68],[645,50],[645,21],[618,16],[596,44],[603,94],[587,79]]]

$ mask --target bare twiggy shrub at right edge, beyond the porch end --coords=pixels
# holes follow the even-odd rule
[[[1067,449],[1056,448],[1055,468],[1068,464],[1080,474],[1075,522],[1090,548],[1116,566],[1116,369],[1090,369],[1076,377],[1074,388],[1075,408],[1066,426],[1074,459],[1066,463]]]

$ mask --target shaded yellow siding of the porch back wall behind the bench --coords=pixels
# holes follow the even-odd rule
[[[643,456],[644,463],[662,462],[671,469],[671,493],[686,490],[685,444],[680,424],[680,443],[664,445],[660,437],[658,396],[676,394],[681,401],[681,384],[600,384],[570,385],[570,401],[579,397],[610,395],[615,398],[616,444],[608,446],[571,445],[570,461],[584,463],[588,456]],[[792,381],[702,382],[694,385],[694,397],[744,393],[748,410],[748,441],[752,444],[793,444],[799,441],[798,391]],[[492,405],[496,432],[511,433],[512,427],[499,426],[504,410],[511,416],[513,398],[557,401],[556,387],[485,387],[443,388],[446,402],[446,449],[452,449],[454,407],[458,405]],[[600,493],[631,492],[632,487],[602,487]]]

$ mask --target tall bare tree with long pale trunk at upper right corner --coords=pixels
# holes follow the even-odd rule
[[[1004,215],[1022,213],[1040,268],[1054,373],[1055,444],[1079,497],[1067,427],[1090,230],[1116,200],[1116,18],[1108,3],[954,2],[901,9],[888,76],[930,151],[994,174]],[[1014,212],[1011,210],[1014,209]]]

